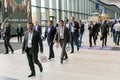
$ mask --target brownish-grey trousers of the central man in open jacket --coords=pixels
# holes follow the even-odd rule
[[[61,60],[63,61],[64,58],[67,58],[68,55],[67,55],[67,52],[66,52],[66,42],[64,40],[60,40],[60,46],[62,48],[62,52],[61,52]]]

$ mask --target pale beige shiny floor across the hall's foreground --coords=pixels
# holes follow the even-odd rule
[[[88,46],[88,39],[84,37],[83,46]],[[15,39],[11,41],[15,42]],[[114,46],[109,38],[108,46]],[[45,44],[46,45],[46,44]],[[101,42],[97,42],[100,46]],[[48,47],[44,47],[44,54],[48,56]],[[120,80],[120,52],[110,50],[80,49],[69,55],[69,59],[60,64],[61,49],[55,49],[55,60],[42,63],[43,73],[36,67],[37,75],[32,78],[27,58],[21,49],[14,54],[0,54],[0,77],[19,80]],[[40,57],[40,54],[39,54]],[[4,80],[4,79],[0,79]]]

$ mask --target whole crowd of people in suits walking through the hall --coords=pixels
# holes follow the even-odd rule
[[[11,52],[13,53],[14,50],[9,44],[10,40],[10,24],[7,23],[5,25],[3,35],[4,35],[4,43],[6,48],[6,54],[8,54],[9,50],[8,47],[11,49]],[[98,37],[98,33],[101,31],[101,41],[102,41],[102,47],[107,46],[107,35],[109,34],[109,25],[107,21],[104,21],[103,23],[93,23],[90,21],[90,24],[88,25],[89,30],[89,46],[92,47],[93,43],[96,45],[96,40]],[[57,45],[60,44],[62,50],[61,50],[61,57],[60,57],[60,63],[63,64],[64,60],[68,59],[67,51],[66,51],[66,45],[71,44],[71,54],[74,53],[74,44],[77,47],[77,51],[79,51],[79,48],[82,44],[82,38],[83,34],[85,32],[85,25],[82,23],[81,20],[75,21],[74,17],[71,17],[71,21],[63,21],[60,20],[57,27],[54,27],[53,21],[49,20],[48,25],[45,29],[45,34],[42,37],[42,28],[38,23],[36,22],[33,24],[32,22],[27,23],[27,31],[24,33],[24,40],[23,40],[23,46],[22,46],[22,53],[26,53],[28,63],[30,66],[31,74],[28,77],[33,77],[36,75],[35,72],[35,66],[34,63],[38,65],[40,72],[43,71],[42,64],[38,60],[38,52],[40,49],[40,52],[43,53],[43,40],[47,39],[47,43],[49,46],[49,57],[48,59],[51,61],[55,58],[55,53],[53,49],[53,45],[56,43]],[[115,30],[115,43],[119,44],[119,38],[120,38],[120,21],[118,23],[114,24],[113,30]],[[18,25],[17,28],[17,34],[21,37],[23,33],[23,28],[21,28],[21,25]],[[22,37],[19,38],[18,36],[18,42],[22,42]],[[20,39],[20,40],[19,40]],[[92,40],[93,39],[93,40]],[[93,41],[93,43],[92,43]]]

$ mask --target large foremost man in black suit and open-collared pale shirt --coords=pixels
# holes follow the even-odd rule
[[[38,60],[39,45],[40,52],[43,53],[43,44],[39,32],[33,30],[33,26],[32,22],[27,23],[28,31],[25,32],[22,47],[22,53],[27,53],[26,55],[31,70],[31,74],[28,77],[35,76],[34,63],[38,65],[40,72],[43,71],[42,64]]]

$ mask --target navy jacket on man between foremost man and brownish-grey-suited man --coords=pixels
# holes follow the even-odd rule
[[[48,42],[53,42],[55,34],[56,34],[56,28],[54,26],[51,27],[51,30],[49,33],[48,33],[48,27],[46,27],[45,38],[47,38]]]

